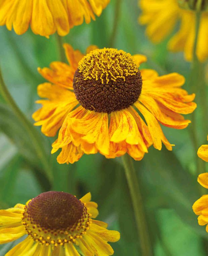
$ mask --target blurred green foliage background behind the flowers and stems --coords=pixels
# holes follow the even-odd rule
[[[63,41],[83,53],[90,44],[96,44],[131,54],[145,54],[148,62],[141,68],[155,69],[160,75],[179,72],[186,76],[184,88],[191,92],[191,64],[184,61],[182,53],[173,54],[166,50],[168,38],[153,45],[145,36],[145,28],[137,22],[139,13],[137,0],[123,0],[120,11],[117,1],[111,0],[100,18],[89,25],[74,27]],[[118,27],[112,35],[115,15]],[[59,60],[56,37],[46,39],[30,30],[17,36],[0,27],[0,49],[5,83],[20,109],[33,123],[31,115],[39,107],[35,104],[37,85],[45,81],[38,74],[37,67],[47,67],[50,62]],[[206,68],[206,63],[203,68]],[[202,128],[198,97],[196,101],[200,146],[206,142],[207,134]],[[156,256],[208,255],[208,234],[205,227],[198,225],[197,216],[192,211],[192,204],[202,193],[197,183],[197,149],[192,146],[192,130],[163,128],[168,140],[176,145],[173,151],[168,152],[164,146],[162,151],[152,147],[142,161],[134,162],[154,253]],[[69,192],[77,197],[90,191],[92,199],[99,204],[98,219],[107,222],[109,229],[121,233],[120,241],[111,244],[114,255],[140,255],[133,207],[120,158],[108,160],[100,154],[84,155],[73,165],[59,165],[56,162],[58,154],[50,154],[54,138],[43,136],[40,127],[37,130],[53,172],[51,186],[42,173],[27,132],[0,98],[0,209],[17,202],[25,203],[46,190]],[[16,243],[1,245],[0,255],[3,256]]]

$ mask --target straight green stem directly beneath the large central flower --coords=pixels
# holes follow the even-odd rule
[[[150,235],[148,232],[145,210],[144,210],[144,205],[142,201],[142,195],[139,187],[136,170],[134,168],[133,161],[129,155],[125,154],[124,156],[122,156],[122,160],[123,160],[126,179],[128,182],[128,187],[129,187],[131,198],[132,198],[136,225],[137,225],[138,234],[140,237],[142,255],[150,256],[150,255],[153,255],[152,245],[150,242]]]

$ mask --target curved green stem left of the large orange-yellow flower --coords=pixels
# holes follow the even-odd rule
[[[44,150],[43,150],[42,141],[39,139],[39,134],[37,134],[37,131],[36,131],[35,127],[24,116],[22,111],[19,109],[19,107],[17,106],[17,104],[13,100],[11,94],[9,93],[9,91],[8,91],[8,89],[7,89],[7,87],[4,83],[2,73],[1,73],[1,69],[0,69],[0,93],[2,94],[2,96],[4,97],[4,99],[8,103],[8,105],[11,107],[11,109],[14,111],[15,115],[20,120],[20,122],[22,123],[25,130],[28,132],[28,135],[31,138],[31,143],[34,146],[36,154],[37,154],[39,160],[41,161],[44,170],[46,171],[47,179],[49,180],[49,182],[51,182],[52,179],[53,179],[52,178],[52,172],[51,172],[51,168],[49,166],[49,163],[47,161],[47,156],[46,156],[46,154],[44,153]]]

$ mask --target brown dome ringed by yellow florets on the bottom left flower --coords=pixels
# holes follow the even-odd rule
[[[75,243],[89,229],[90,215],[75,196],[49,191],[32,199],[25,206],[22,224],[37,242],[46,245]]]

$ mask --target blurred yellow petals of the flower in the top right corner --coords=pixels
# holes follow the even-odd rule
[[[173,52],[183,51],[185,59],[192,60],[195,39],[195,12],[182,9],[177,0],[140,0],[142,15],[139,22],[147,25],[146,34],[158,43],[170,34],[177,21],[180,21],[178,32],[170,39],[168,49]],[[200,61],[208,58],[208,12],[201,17],[197,56]]]

